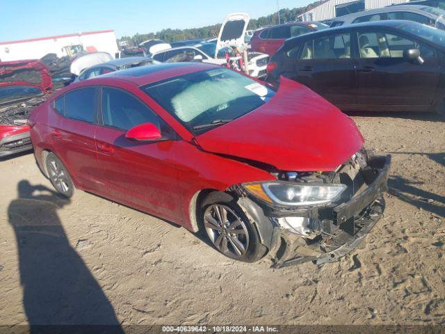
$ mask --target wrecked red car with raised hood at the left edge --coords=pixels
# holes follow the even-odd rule
[[[0,63],[0,157],[33,149],[26,122],[51,87],[49,69],[40,61]]]

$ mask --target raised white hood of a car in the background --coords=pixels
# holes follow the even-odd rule
[[[218,40],[216,41],[216,51],[213,58],[223,47],[236,47],[243,49],[245,45],[244,35],[250,21],[248,13],[232,13],[227,15],[221,26]]]

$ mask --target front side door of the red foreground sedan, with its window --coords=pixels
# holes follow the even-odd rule
[[[120,88],[102,88],[102,120],[96,132],[97,162],[106,197],[175,220],[181,214],[177,170],[171,159],[176,135],[145,102]],[[127,130],[151,122],[160,141],[136,142]]]

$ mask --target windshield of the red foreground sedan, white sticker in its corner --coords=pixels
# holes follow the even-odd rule
[[[142,89],[195,134],[241,117],[275,95],[267,86],[225,68],[185,74]]]

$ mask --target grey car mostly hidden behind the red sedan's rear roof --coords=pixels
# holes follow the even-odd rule
[[[127,57],[108,61],[92,67],[88,67],[76,78],[75,82],[91,79],[102,74],[125,70],[131,67],[154,65],[158,61],[147,57]]]

